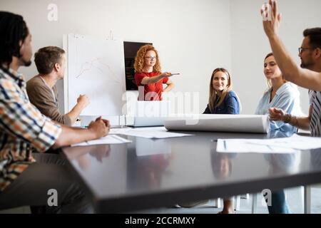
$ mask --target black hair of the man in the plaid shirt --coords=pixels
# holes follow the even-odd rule
[[[21,56],[20,42],[24,42],[29,30],[22,16],[0,11],[0,34],[0,65],[9,65],[12,56]]]

